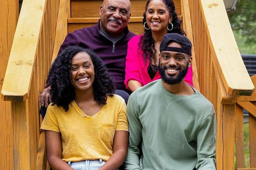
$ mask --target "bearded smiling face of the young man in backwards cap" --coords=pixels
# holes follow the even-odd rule
[[[168,47],[182,48],[181,44],[171,42]],[[180,83],[192,64],[192,57],[185,53],[161,51],[159,73],[167,84]]]

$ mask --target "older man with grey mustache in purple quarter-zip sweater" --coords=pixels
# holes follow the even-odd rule
[[[98,23],[92,27],[69,33],[61,45],[59,53],[70,45],[92,49],[108,68],[115,81],[116,89],[127,91],[124,85],[127,43],[131,37],[135,36],[127,27],[130,16],[131,3],[129,0],[104,0],[100,7]],[[51,75],[49,76],[47,86],[51,85]],[[45,107],[51,101],[48,89],[44,89],[40,96],[40,104]],[[126,95],[122,91],[118,93],[121,96]]]

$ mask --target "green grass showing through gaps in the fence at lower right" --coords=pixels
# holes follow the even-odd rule
[[[245,167],[250,167],[249,159],[249,124],[244,124],[244,157],[245,157]],[[236,169],[236,147],[234,148],[234,167]]]

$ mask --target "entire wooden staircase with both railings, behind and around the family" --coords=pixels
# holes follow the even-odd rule
[[[223,1],[174,3],[193,44],[194,86],[215,108],[217,169],[233,170],[235,102],[239,96],[251,96],[254,86],[238,51]],[[7,169],[47,168],[44,133],[39,131],[40,91],[67,33],[96,24],[101,4],[102,0],[23,1],[1,89],[3,100],[11,101],[9,135],[13,157]],[[141,34],[146,0],[131,0],[131,4],[128,27]]]

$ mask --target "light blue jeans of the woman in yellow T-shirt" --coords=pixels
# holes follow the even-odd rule
[[[79,162],[67,162],[69,166],[75,170],[98,170],[101,166],[103,166],[106,162],[102,159],[96,160],[85,160]]]

